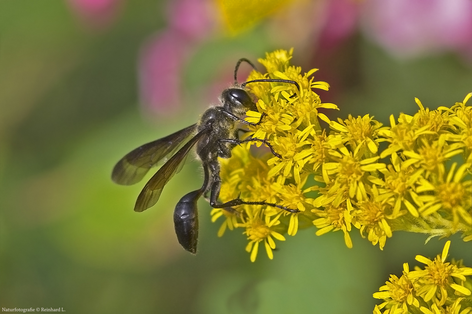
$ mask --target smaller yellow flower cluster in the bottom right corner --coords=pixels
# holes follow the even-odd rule
[[[373,313],[472,313],[472,280],[466,278],[472,275],[472,268],[464,267],[462,261],[446,262],[450,244],[447,241],[441,256],[434,260],[417,255],[416,260],[426,264],[424,269],[416,266],[414,271],[410,271],[408,263],[405,263],[400,278],[390,275],[386,285],[373,294],[374,298],[385,301],[375,306]]]

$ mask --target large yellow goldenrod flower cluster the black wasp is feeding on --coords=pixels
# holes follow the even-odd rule
[[[252,261],[259,242],[272,258],[274,239],[284,241],[283,234],[293,236],[313,225],[318,235],[342,230],[349,248],[353,226],[380,249],[396,230],[441,237],[460,232],[464,241],[472,240],[472,107],[466,106],[472,93],[462,103],[432,111],[416,99],[419,112],[402,113],[397,121],[392,115],[391,127],[369,114],[332,121],[318,108],[337,106],[322,103],[312,90],[329,85],[313,80],[317,69],[302,74],[291,66],[292,52],[267,53],[258,60],[267,73],[253,71],[248,77],[293,80],[300,86],[248,84],[258,112],[248,111],[246,121],[264,116],[244,138],[267,139],[282,157],[260,142],[236,147],[232,158],[220,160],[220,201],[240,195],[299,212],[260,205],[213,209],[212,221],[226,217],[218,235],[244,228]]]

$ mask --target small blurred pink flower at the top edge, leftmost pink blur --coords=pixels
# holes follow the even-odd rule
[[[116,18],[121,0],[67,0],[79,19],[93,28],[109,26]]]

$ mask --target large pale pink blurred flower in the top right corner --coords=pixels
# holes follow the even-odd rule
[[[471,0],[367,0],[362,10],[363,31],[396,56],[472,44]]]

